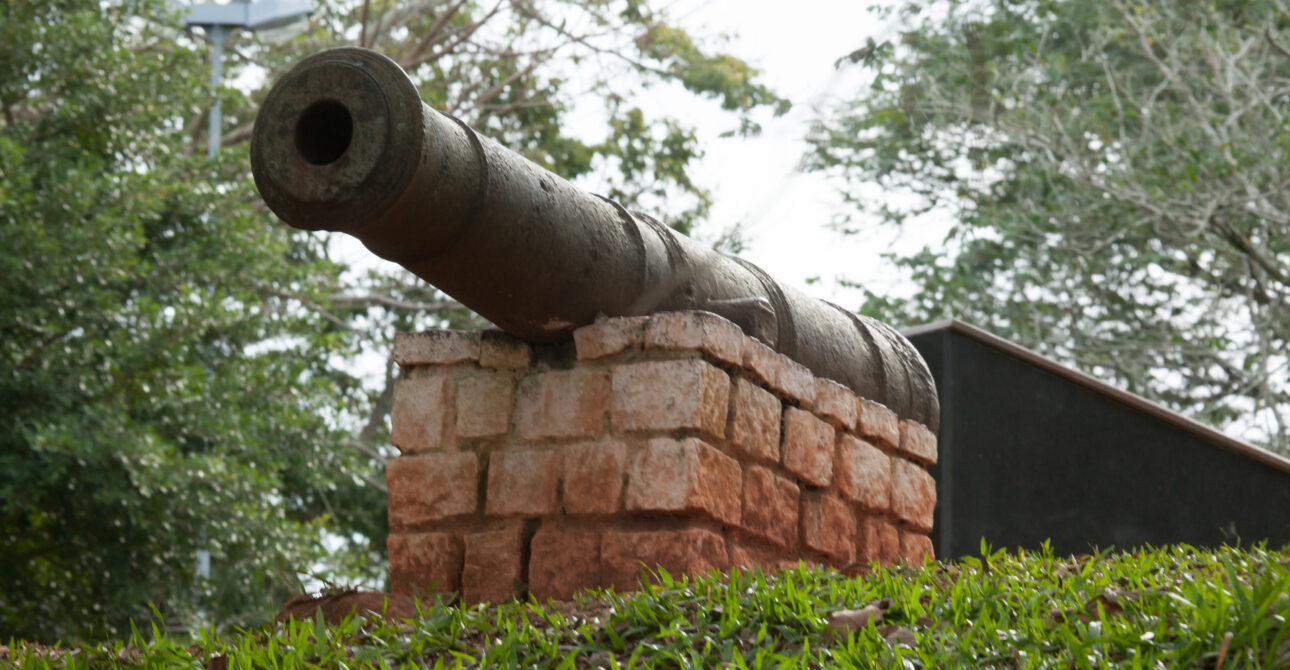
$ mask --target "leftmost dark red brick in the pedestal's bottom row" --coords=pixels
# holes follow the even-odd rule
[[[462,587],[462,541],[448,533],[391,533],[390,589],[426,596]]]

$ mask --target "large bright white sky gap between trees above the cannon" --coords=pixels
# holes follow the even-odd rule
[[[882,41],[891,36],[868,12],[869,5],[863,0],[682,0],[671,5],[697,31],[730,35],[729,52],[761,70],[765,81],[795,103],[788,115],[766,123],[762,136],[752,139],[719,138],[729,121],[697,119],[707,151],[697,177],[713,191],[716,203],[700,235],[743,222],[749,240],[744,258],[786,284],[845,307],[857,307],[859,297],[840,289],[837,278],[860,281],[878,293],[908,290],[891,267],[882,265],[880,253],[893,244],[902,250],[924,244],[876,226],[854,236],[829,230],[828,223],[845,207],[836,185],[795,169],[818,112],[867,84],[857,67],[837,70],[833,63],[862,46],[866,37]],[[811,278],[819,281],[808,285]]]

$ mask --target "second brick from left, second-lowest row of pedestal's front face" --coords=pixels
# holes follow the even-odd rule
[[[489,515],[543,516],[556,511],[560,454],[555,451],[498,451],[488,466]]]

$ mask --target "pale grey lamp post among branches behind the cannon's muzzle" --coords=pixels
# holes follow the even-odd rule
[[[276,28],[302,21],[313,12],[311,0],[232,0],[231,3],[203,3],[188,6],[188,15],[184,17],[186,27],[199,27],[206,32],[210,40],[210,88],[219,89],[224,68],[224,40],[235,30],[245,28],[250,31]],[[219,152],[221,123],[223,116],[219,110],[219,96],[215,96],[214,105],[210,106],[210,132],[206,155],[215,157]]]

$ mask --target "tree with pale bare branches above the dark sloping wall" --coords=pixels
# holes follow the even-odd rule
[[[893,258],[916,294],[864,310],[974,321],[1290,451],[1286,5],[899,12],[809,161],[878,221],[952,227],[944,250]],[[875,186],[898,195],[866,200]]]

